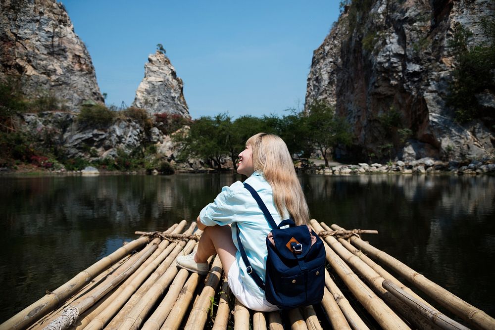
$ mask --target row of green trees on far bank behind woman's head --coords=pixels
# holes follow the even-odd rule
[[[291,154],[308,157],[318,149],[328,166],[329,149],[351,141],[349,125],[334,112],[331,106],[316,102],[307,114],[291,109],[283,117],[242,116],[236,120],[227,114],[201,117],[189,129],[175,134],[173,140],[180,147],[180,159],[198,157],[220,170],[222,156],[229,156],[235,164],[249,137],[259,132],[273,133],[287,143]]]

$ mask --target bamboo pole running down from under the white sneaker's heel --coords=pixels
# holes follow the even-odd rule
[[[191,300],[193,300],[194,291],[201,281],[202,276],[199,276],[198,273],[191,274],[189,280],[184,285],[179,298],[175,302],[170,315],[167,317],[167,319],[163,323],[163,326],[160,328],[161,330],[179,329],[182,319],[189,309],[189,304],[191,303]],[[202,329],[202,326],[200,328]]]

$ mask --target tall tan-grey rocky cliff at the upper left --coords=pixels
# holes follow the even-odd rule
[[[103,101],[88,50],[56,0],[2,0],[0,53],[0,78],[18,77],[29,97],[49,94],[75,111]]]

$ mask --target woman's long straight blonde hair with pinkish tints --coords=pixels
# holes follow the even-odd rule
[[[261,171],[273,190],[273,200],[280,216],[287,208],[296,225],[309,222],[309,209],[297,179],[291,154],[284,140],[274,134],[258,133],[246,145],[252,149],[254,171]]]

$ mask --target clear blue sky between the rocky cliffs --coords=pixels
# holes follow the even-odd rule
[[[302,108],[313,50],[339,1],[62,0],[107,104],[131,105],[162,44],[193,118]]]

